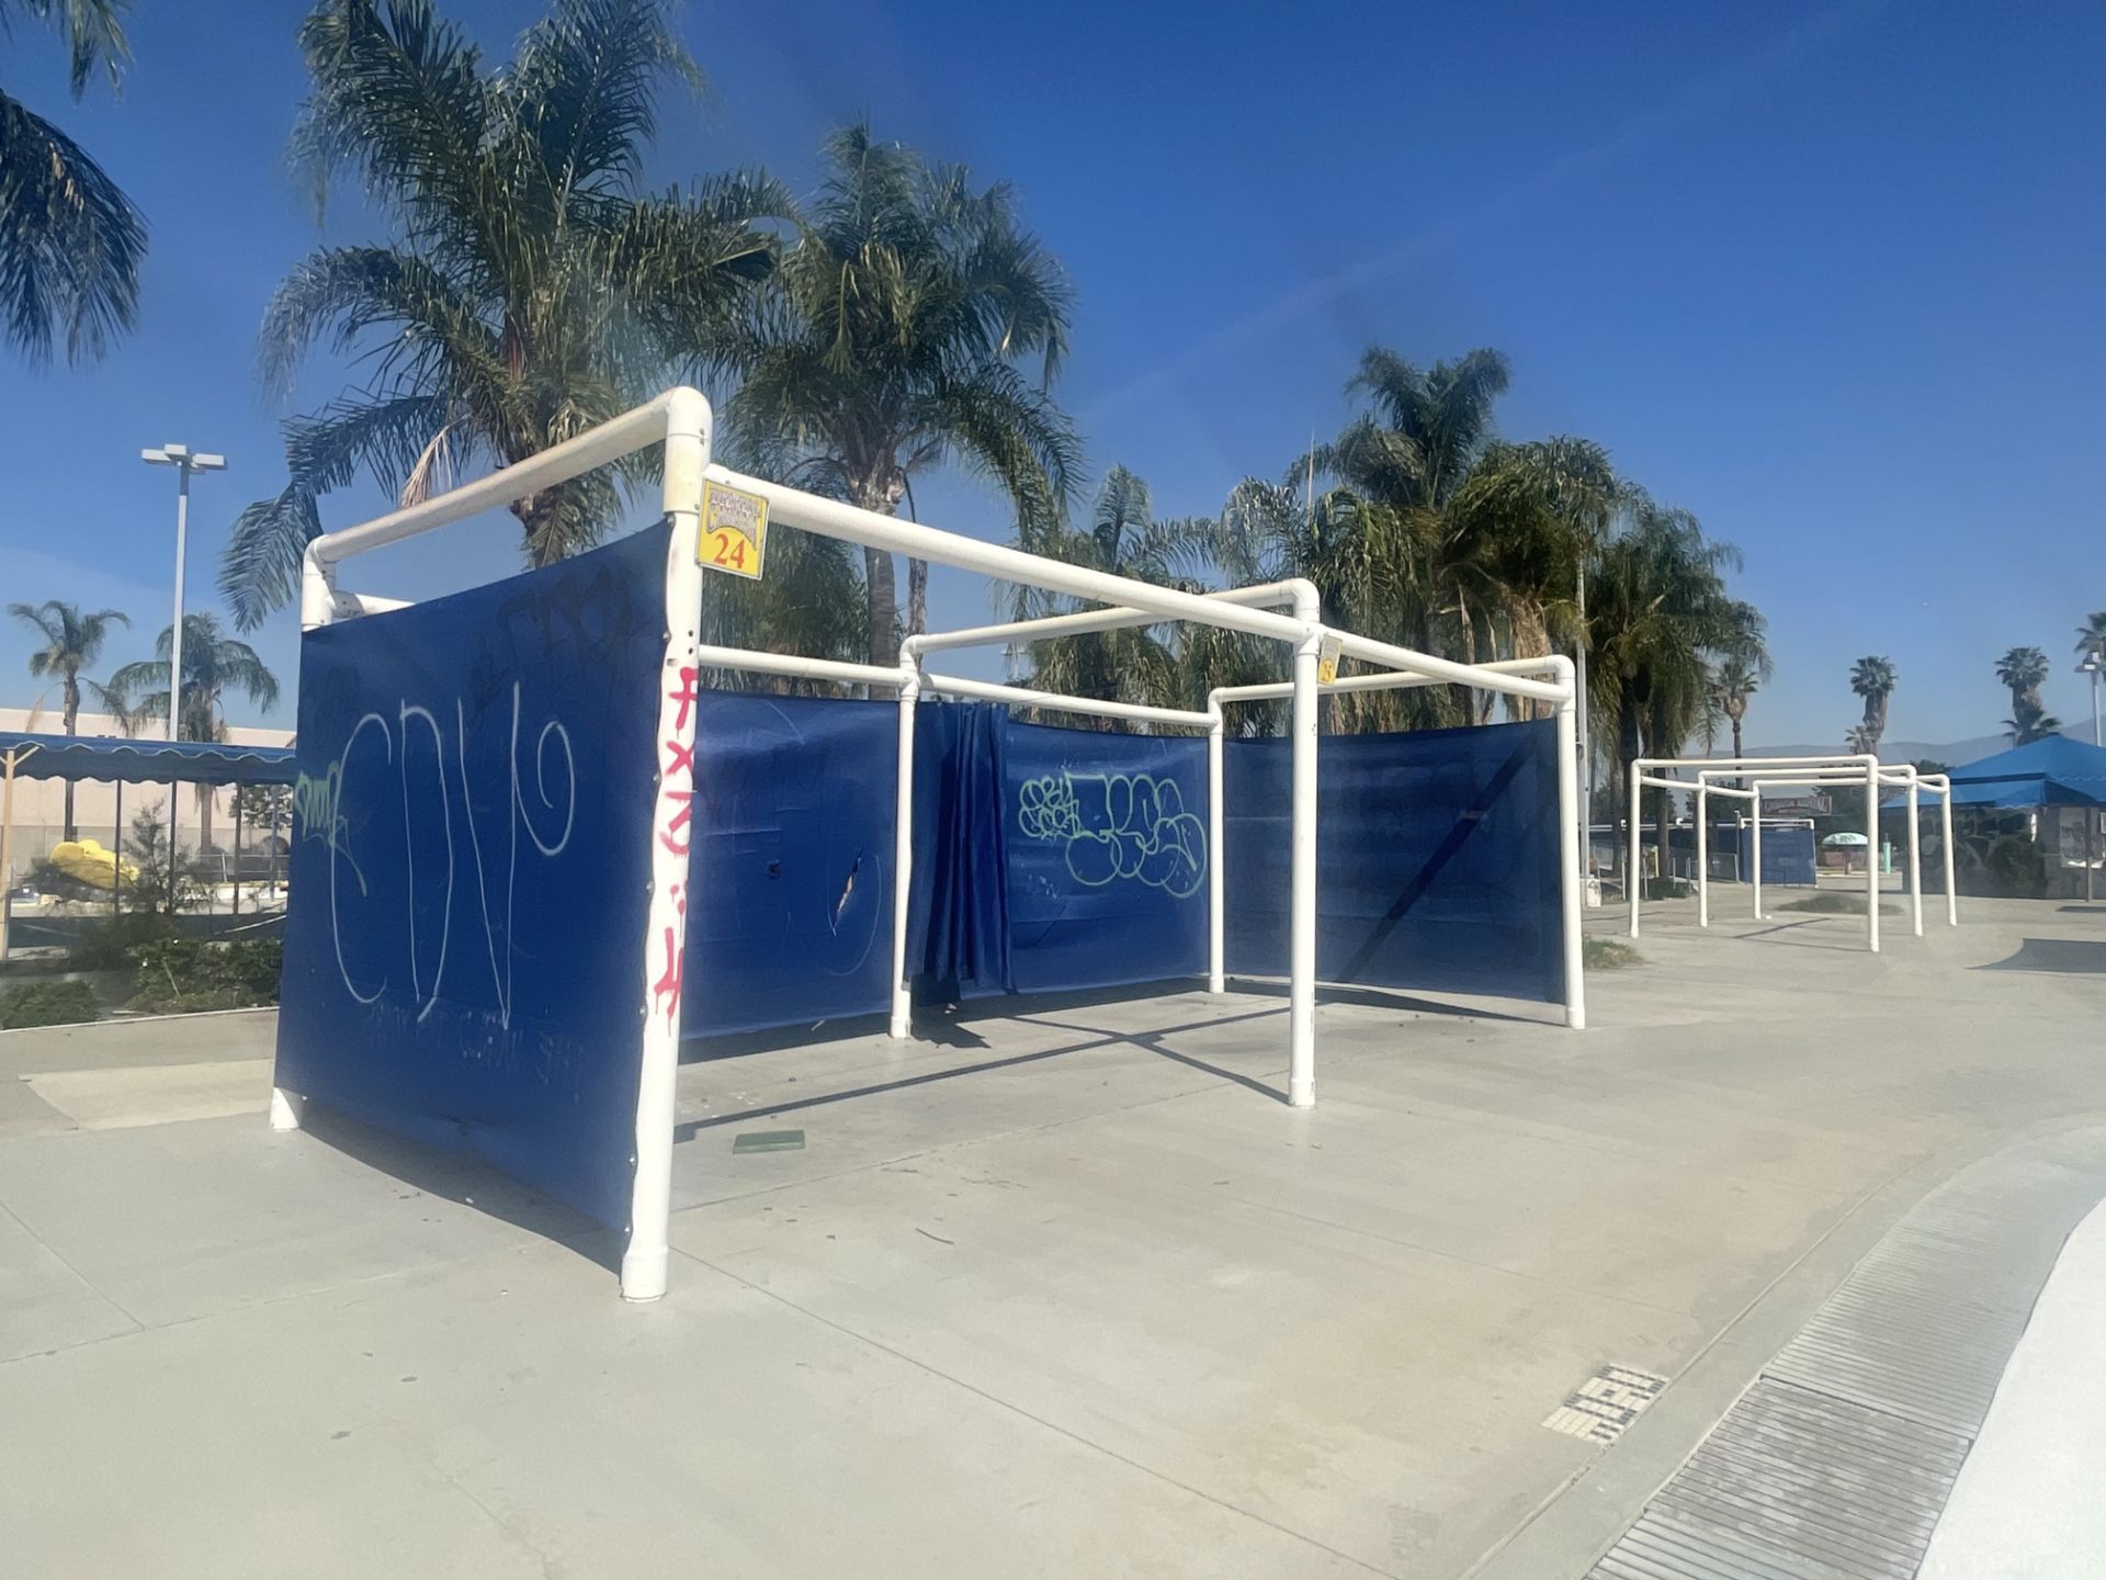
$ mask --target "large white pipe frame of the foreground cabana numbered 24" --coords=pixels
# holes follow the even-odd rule
[[[1024,550],[988,544],[977,537],[948,533],[920,522],[903,522],[880,516],[838,499],[788,489],[779,482],[731,472],[710,461],[714,417],[710,402],[699,390],[678,388],[600,423],[575,438],[554,445],[539,455],[491,472],[484,478],[465,482],[446,493],[434,495],[417,506],[390,512],[375,520],[343,531],[324,533],[307,544],[301,560],[301,628],[314,630],[337,619],[352,619],[371,613],[402,609],[404,600],[379,598],[373,594],[345,592],[337,588],[337,567],[358,554],[369,554],[388,544],[434,531],[463,520],[484,510],[510,506],[539,489],[567,482],[583,472],[617,461],[630,453],[663,442],[661,508],[670,525],[665,546],[665,651],[659,670],[659,731],[655,742],[665,750],[693,754],[695,720],[693,708],[680,704],[682,670],[701,668],[746,668],[773,674],[796,674],[811,678],[834,678],[851,685],[891,687],[899,697],[899,803],[897,803],[897,847],[895,847],[895,910],[893,910],[893,1015],[895,1036],[908,1034],[908,984],[906,984],[906,931],[908,893],[912,878],[912,782],[914,782],[914,706],[925,685],[954,695],[996,697],[1005,702],[1026,702],[1040,708],[1061,708],[1070,712],[1097,712],[1104,716],[1177,723],[1205,727],[1211,739],[1219,742],[1221,716],[1211,706],[1207,714],[1184,710],[1154,710],[1133,704],[1104,704],[1080,697],[1055,697],[1024,687],[996,687],[979,680],[954,676],[925,676],[920,655],[941,647],[967,647],[984,640],[1002,640],[1009,634],[1057,636],[1082,630],[1112,630],[1120,626],[1150,626],[1173,619],[1190,619],[1205,626],[1236,630],[1251,636],[1283,640],[1293,649],[1293,680],[1287,695],[1293,704],[1293,824],[1289,864],[1289,1102],[1306,1108],[1316,1100],[1316,695],[1318,695],[1318,653],[1331,649],[1363,664],[1413,676],[1417,685],[1466,685],[1483,691],[1499,691],[1531,702],[1548,702],[1558,708],[1558,809],[1561,809],[1561,862],[1563,862],[1563,927],[1567,980],[1573,1003],[1569,1018],[1584,1024],[1584,999],[1580,977],[1580,889],[1577,870],[1577,763],[1573,752],[1573,708],[1575,689],[1571,664],[1567,659],[1535,661],[1537,672],[1550,672],[1552,680],[1516,674],[1508,668],[1455,664],[1430,653],[1415,653],[1407,647],[1377,643],[1354,632],[1327,628],[1314,607],[1314,588],[1308,584],[1280,584],[1274,588],[1230,590],[1224,594],[1179,592],[1158,588],[1131,577],[1108,575],[1087,567],[1049,560]],[[703,485],[716,482],[767,501],[773,525],[798,527],[821,537],[861,544],[912,558],[952,565],[962,571],[1013,581],[1019,586],[1045,588],[1089,603],[1106,605],[1072,615],[1053,615],[1038,621],[1013,621],[1011,626],[990,626],[969,632],[946,632],[910,636],[901,647],[899,672],[878,666],[838,664],[781,653],[750,653],[743,649],[718,649],[701,643],[701,560],[697,554],[701,529]],[[1293,613],[1274,613],[1253,603],[1289,603]],[[1026,630],[1028,628],[1028,630]],[[1219,750],[1209,754],[1215,763]],[[695,904],[689,895],[680,904],[678,891],[687,883],[687,857],[668,841],[657,838],[659,824],[670,817],[693,786],[676,786],[653,761],[657,796],[651,819],[651,904],[642,950],[638,954],[640,1009],[642,1009],[642,1051],[638,1066],[636,1095],[636,1176],[630,1207],[630,1239],[621,1258],[621,1293],[628,1300],[657,1300],[665,1293],[665,1272],[670,1262],[668,1226],[672,1216],[672,1133],[674,1095],[678,1079],[680,1032],[678,1015],[651,1013],[653,975],[649,965],[649,942],[670,935],[674,950],[687,948],[687,910]],[[638,765],[640,771],[640,765]],[[1219,803],[1219,777],[1211,798]],[[1215,807],[1217,811],[1217,807]],[[1219,830],[1219,817],[1215,817]],[[1215,912],[1219,916],[1219,912]],[[1215,921],[1215,940],[1219,921]],[[1215,963],[1219,961],[1215,952]],[[274,1087],[272,1127],[299,1127],[301,1098]]]

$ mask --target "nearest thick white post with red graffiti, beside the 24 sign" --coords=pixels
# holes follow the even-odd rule
[[[665,657],[659,668],[659,720],[653,737],[651,906],[642,937],[642,1060],[636,1077],[636,1184],[630,1197],[630,1247],[621,1256],[621,1298],[657,1300],[665,1293],[672,1256],[672,1123],[680,1079],[680,1015],[687,959],[687,919],[697,900],[689,893],[687,845],[661,838],[678,809],[699,792],[668,782],[661,752],[695,750],[695,678],[701,640],[701,474],[710,466],[710,402],[676,390],[665,402],[663,510],[672,525],[665,541]],[[693,824],[689,824],[693,826]],[[701,984],[695,984],[697,988]]]

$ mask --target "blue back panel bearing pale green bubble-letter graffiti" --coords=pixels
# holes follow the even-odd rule
[[[1207,969],[1207,742],[1009,723],[1017,992]]]

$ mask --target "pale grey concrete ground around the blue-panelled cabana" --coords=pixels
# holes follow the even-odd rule
[[[4,1569],[1584,1574],[1910,1203],[2106,1119],[2095,910],[1641,952],[1584,1034],[1327,1003],[1314,1110],[1259,992],[693,1064],[640,1308],[486,1171],[272,1135],[267,1015],[0,1034]],[[1550,1430],[1603,1365],[1670,1382]]]

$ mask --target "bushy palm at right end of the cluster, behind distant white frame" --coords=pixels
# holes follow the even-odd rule
[[[1731,544],[1704,537],[1687,510],[1626,489],[1624,522],[1588,569],[1588,702],[1613,731],[1617,786],[1638,756],[1672,758],[1700,727],[1712,664],[1740,659],[1769,676],[1763,617],[1727,592],[1740,569]],[[1628,807],[1636,817],[1638,809]],[[1660,796],[1660,849],[1668,849],[1668,796]]]

